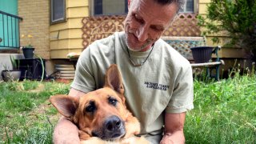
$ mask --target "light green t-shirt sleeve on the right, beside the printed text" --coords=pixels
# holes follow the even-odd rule
[[[182,113],[194,108],[193,74],[190,64],[182,67],[175,82],[174,91],[166,107],[167,113]]]

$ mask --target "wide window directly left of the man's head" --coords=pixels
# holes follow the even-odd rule
[[[92,0],[91,15],[127,14],[127,0]]]

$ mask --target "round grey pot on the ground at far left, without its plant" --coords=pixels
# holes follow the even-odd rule
[[[2,79],[5,82],[18,81],[21,78],[21,70],[2,70]]]

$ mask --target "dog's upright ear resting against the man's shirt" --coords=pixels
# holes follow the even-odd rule
[[[117,91],[119,94],[124,93],[122,85],[122,76],[118,70],[118,66],[113,64],[106,70],[105,86]]]

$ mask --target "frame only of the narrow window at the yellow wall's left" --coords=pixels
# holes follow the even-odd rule
[[[63,17],[58,19],[54,18],[54,0],[50,0],[50,25],[60,23],[60,22],[66,22],[66,0],[63,1]]]

